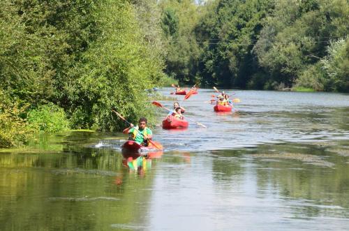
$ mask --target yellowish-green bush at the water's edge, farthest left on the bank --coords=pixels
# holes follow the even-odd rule
[[[18,147],[31,137],[27,122],[20,115],[25,107],[17,100],[10,100],[0,90],[0,147]]]

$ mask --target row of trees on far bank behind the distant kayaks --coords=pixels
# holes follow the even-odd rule
[[[349,91],[347,0],[162,1],[166,73],[243,89]]]

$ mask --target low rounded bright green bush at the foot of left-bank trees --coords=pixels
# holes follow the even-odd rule
[[[41,105],[28,114],[29,126],[36,131],[57,133],[69,128],[69,121],[61,107],[53,103]]]

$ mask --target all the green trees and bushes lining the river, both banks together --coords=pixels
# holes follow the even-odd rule
[[[2,0],[0,147],[117,131],[170,84],[349,91],[346,0]]]

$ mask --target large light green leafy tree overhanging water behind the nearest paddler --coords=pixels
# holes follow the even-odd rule
[[[151,77],[161,67],[154,68],[150,47],[142,43],[131,3],[105,0],[95,14],[101,35],[75,66],[71,119],[77,127],[115,130],[123,123],[117,122],[112,108],[131,121],[151,115],[144,89],[152,87]]]

